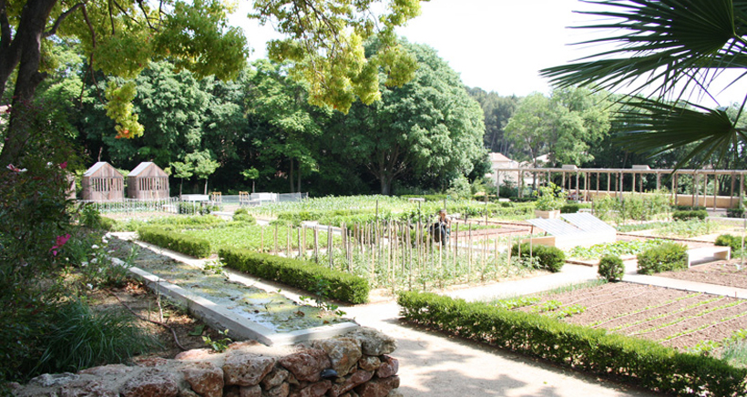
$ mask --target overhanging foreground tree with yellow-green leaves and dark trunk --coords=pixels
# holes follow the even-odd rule
[[[373,15],[369,9],[374,3],[384,3],[388,12]],[[312,83],[314,103],[346,110],[355,97],[365,102],[377,99],[377,66],[386,68],[392,85],[412,76],[412,57],[389,44],[395,41],[394,26],[419,13],[419,0],[364,0],[353,5],[347,0],[261,0],[254,7],[253,16],[261,23],[270,21],[288,36],[272,42],[270,53],[295,63],[293,75]],[[248,49],[240,29],[227,25],[228,10],[220,0],[165,0],[158,8],[139,0],[0,0],[0,97],[16,72],[0,164],[24,154],[30,132],[14,118],[30,104],[46,76],[46,40],[77,39],[92,78],[94,69],[133,78],[150,60],[167,57],[198,78],[230,78],[243,69]],[[377,30],[377,21],[385,38],[382,55],[366,60],[362,43]],[[107,87],[107,115],[117,121],[118,137],[137,137],[143,131],[130,104],[134,96],[131,81]]]

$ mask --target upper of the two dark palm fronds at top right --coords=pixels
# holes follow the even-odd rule
[[[667,92],[682,81],[698,79],[709,86],[709,68],[747,67],[747,5],[732,0],[606,0],[589,1],[612,11],[583,12],[612,22],[579,26],[615,29],[624,33],[588,40],[588,44],[616,47],[579,62],[540,71],[559,87],[588,86],[610,89],[639,84]],[[646,83],[636,82],[641,77]],[[741,78],[738,77],[738,78]],[[640,80],[639,80],[640,81]],[[651,87],[653,85],[653,87]]]

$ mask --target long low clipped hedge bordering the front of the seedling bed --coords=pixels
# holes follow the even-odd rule
[[[747,392],[747,369],[680,353],[654,341],[433,293],[404,292],[398,302],[408,321],[652,391],[685,396]]]

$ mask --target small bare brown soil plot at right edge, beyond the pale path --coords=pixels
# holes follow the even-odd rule
[[[693,266],[687,271],[667,271],[657,276],[747,289],[747,260],[721,260]]]

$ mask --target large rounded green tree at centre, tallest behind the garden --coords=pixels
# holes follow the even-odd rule
[[[418,60],[414,79],[403,87],[382,87],[382,100],[355,104],[331,122],[322,142],[367,169],[382,194],[405,172],[447,179],[466,175],[485,149],[483,112],[459,75],[429,46],[405,45]],[[373,43],[369,48],[376,48]]]

